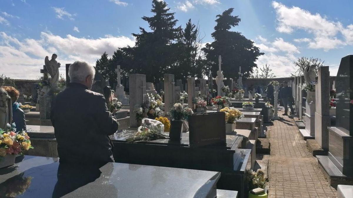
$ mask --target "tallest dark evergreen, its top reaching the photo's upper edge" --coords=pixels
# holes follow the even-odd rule
[[[180,36],[181,27],[174,19],[174,13],[169,12],[164,1],[152,1],[153,17],[142,17],[147,21],[152,32],[140,27],[139,34],[132,34],[136,37],[135,47],[127,47],[122,50],[126,53],[129,63],[128,70],[140,74],[146,74],[148,82],[162,80],[170,66],[175,64],[178,55],[177,39]]]

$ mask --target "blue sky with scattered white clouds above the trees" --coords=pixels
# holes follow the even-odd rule
[[[217,14],[230,7],[241,18],[234,31],[253,40],[275,75],[295,72],[301,56],[317,57],[336,75],[343,56],[353,53],[353,1],[165,0],[178,25],[199,23],[204,43],[212,42]],[[134,45],[131,33],[152,16],[151,0],[0,1],[0,73],[16,79],[40,76],[44,57],[58,54],[65,65],[95,63],[107,51]],[[64,68],[60,70],[64,72]]]

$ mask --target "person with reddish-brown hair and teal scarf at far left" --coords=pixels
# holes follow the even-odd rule
[[[16,132],[26,130],[26,118],[20,104],[17,102],[20,92],[11,86],[2,87],[11,97],[12,101],[12,123],[16,124]]]

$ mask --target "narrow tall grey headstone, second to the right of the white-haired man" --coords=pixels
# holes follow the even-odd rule
[[[174,105],[174,74],[164,74],[164,113],[167,115],[168,111]]]

